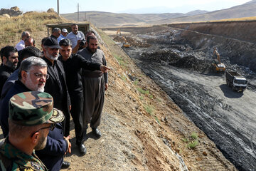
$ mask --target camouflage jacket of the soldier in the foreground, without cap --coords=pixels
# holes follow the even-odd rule
[[[27,155],[10,144],[6,137],[4,144],[0,147],[0,170],[47,170],[43,162],[35,155]]]

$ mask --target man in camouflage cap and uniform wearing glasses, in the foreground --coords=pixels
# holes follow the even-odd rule
[[[47,170],[34,150],[46,146],[49,129],[64,120],[48,93],[18,93],[9,103],[9,135],[1,140],[0,170]]]

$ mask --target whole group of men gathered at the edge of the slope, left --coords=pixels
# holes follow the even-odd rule
[[[28,31],[21,34],[22,40],[16,45],[17,48],[19,47],[19,51],[13,46],[1,48],[0,125],[5,141],[4,144],[0,143],[0,170],[1,168],[8,170],[14,167],[32,169],[38,167],[40,170],[44,170],[44,165],[48,170],[60,170],[61,167],[69,167],[70,163],[63,160],[63,155],[71,152],[70,114],[75,124],[76,145],[78,145],[82,155],[87,152],[83,140],[87,133],[88,124],[90,124],[95,137],[100,138],[101,133],[97,127],[100,125],[102,116],[104,94],[108,88],[107,71],[110,68],[107,68],[103,51],[97,46],[95,33],[90,31],[85,38],[84,34],[78,31],[77,24],[73,24],[71,28],[70,33],[65,28],[61,31],[60,28],[53,28],[52,35],[42,39],[43,53],[34,46],[33,38]],[[82,45],[80,42],[85,40],[86,43]],[[32,41],[32,43],[25,46],[26,41]],[[78,51],[81,46],[82,49]],[[32,145],[40,159],[36,158],[36,161],[40,161],[39,164],[35,164],[34,160],[33,162],[32,160],[13,161],[15,156],[10,156],[4,152],[10,145],[26,155],[33,156],[34,154],[24,150],[27,145],[21,147],[22,145],[17,145],[11,140],[14,138],[11,136],[12,127],[19,125],[25,126],[24,129],[27,129],[27,126],[33,125],[38,128],[38,125],[48,123],[47,118],[35,125],[36,120],[32,119],[34,115],[39,114],[28,112],[32,109],[26,105],[27,103],[32,104],[33,108],[36,105],[35,111],[41,111],[43,106],[41,102],[48,102],[47,100],[39,100],[40,98],[35,100],[35,97],[38,97],[38,94],[41,95],[41,92],[52,97],[52,100],[48,101],[52,101],[53,108],[65,117],[53,124],[54,130],[52,129],[53,125],[48,127],[50,130],[48,129],[48,133],[43,135],[44,145],[41,145],[41,148],[36,148],[36,143]],[[21,100],[18,103],[22,103],[22,105],[15,107],[18,108],[18,112],[11,106],[11,100],[13,98],[15,100],[17,95],[21,97],[18,98]],[[16,103],[14,104],[16,105]],[[28,109],[23,110],[25,107]],[[12,113],[13,111],[14,113]],[[53,110],[50,113],[53,113]],[[22,118],[22,124],[15,121],[18,118]],[[25,124],[23,125],[23,123]],[[40,133],[42,129],[45,128],[39,129],[33,135]],[[23,153],[22,155],[24,155]],[[10,163],[9,160],[12,162]]]

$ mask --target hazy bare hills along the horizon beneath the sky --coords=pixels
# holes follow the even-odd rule
[[[213,21],[220,19],[234,19],[256,16],[256,0],[249,1],[239,6],[218,11],[195,10],[186,14],[126,14],[102,11],[81,11],[79,21],[90,21],[98,27],[108,26],[137,26],[152,24],[171,24],[180,22]],[[78,21],[78,13],[60,14],[66,19]]]

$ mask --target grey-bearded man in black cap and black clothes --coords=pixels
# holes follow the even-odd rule
[[[53,96],[54,108],[63,111],[65,115],[64,136],[70,135],[70,97],[65,78],[63,63],[58,61],[59,49],[58,41],[55,38],[47,38],[43,43],[43,60],[46,61],[49,78],[46,82],[45,92]]]

